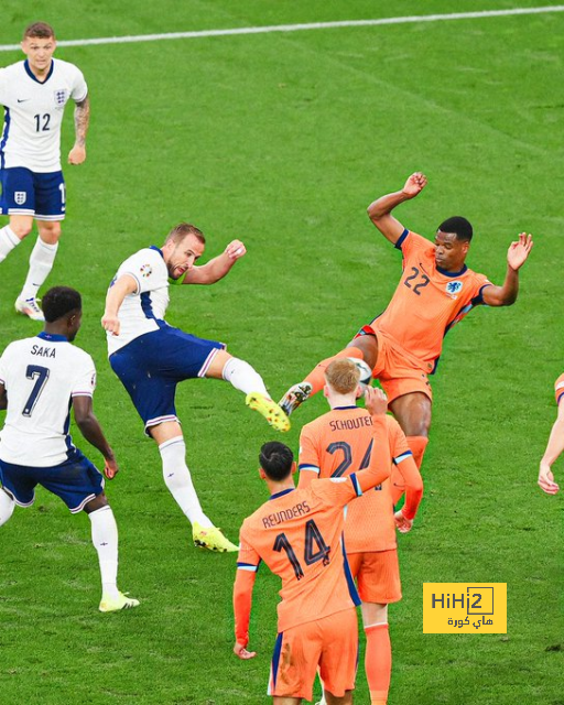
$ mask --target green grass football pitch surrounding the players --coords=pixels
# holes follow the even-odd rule
[[[424,11],[512,7],[486,4],[436,0]],[[416,2],[392,12],[354,0],[118,1],[87,12],[55,0],[45,13],[34,0],[7,4],[0,41],[15,42],[37,18],[79,39],[421,12]],[[40,490],[1,529],[2,703],[268,702],[278,582],[261,571],[250,642],[259,655],[239,662],[235,556],[191,546],[156,448],[106,360],[106,286],[128,254],[181,219],[204,229],[206,256],[241,238],[249,253],[228,279],[173,289],[169,318],[228,341],[278,398],[386,306],[400,256],[365,208],[415,170],[430,184],[398,209],[408,227],[430,236],[466,215],[477,234],[468,263],[497,283],[520,230],[535,247],[517,305],[473,312],[445,343],[423,508],[400,538],[390,703],[564,703],[562,498],[535,487],[562,371],[563,32],[564,15],[547,14],[57,52],[83,68],[93,120],[87,163],[65,171],[68,217],[48,284],[84,294],[77,343],[97,362],[95,409],[122,468],[107,488],[120,585],[142,604],[97,614],[89,522]],[[67,115],[64,154],[70,144]],[[31,247],[1,265],[2,347],[39,329],[12,307]],[[325,410],[319,397],[293,416],[284,440],[294,451],[300,425]],[[203,506],[235,539],[265,499],[257,455],[275,436],[228,384],[182,384],[178,412]],[[77,432],[75,441],[99,459]],[[508,583],[507,636],[422,633],[422,583],[455,581]],[[368,702],[362,665],[356,702]]]

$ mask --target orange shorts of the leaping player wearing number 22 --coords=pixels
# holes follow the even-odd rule
[[[389,402],[412,392],[423,392],[433,401],[429,377],[417,367],[415,358],[395,344],[389,335],[372,326],[362,326],[355,338],[365,335],[373,335],[378,340],[378,359],[372,377],[379,380]]]

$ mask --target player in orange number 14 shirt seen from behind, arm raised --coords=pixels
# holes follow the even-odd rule
[[[295,489],[292,451],[276,442],[261,448],[260,476],[271,497],[240,531],[234,651],[240,659],[256,655],[247,650],[249,618],[257,568],[264,561],[282,578],[269,687],[274,705],[312,699],[317,669],[328,705],[352,703],[359,599],[343,550],[344,507],[387,479],[391,465],[386,395],[368,389],[366,405],[375,445],[382,452],[372,454],[365,470]]]

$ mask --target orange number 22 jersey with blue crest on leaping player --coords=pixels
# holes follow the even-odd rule
[[[395,247],[403,254],[403,273],[386,311],[371,326],[392,337],[431,372],[453,325],[481,303],[490,282],[466,267],[452,274],[437,269],[435,246],[405,230]]]

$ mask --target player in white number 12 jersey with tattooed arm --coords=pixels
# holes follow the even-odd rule
[[[0,105],[4,126],[0,140],[0,214],[10,221],[0,228],[0,262],[37,223],[39,238],[15,310],[43,321],[37,293],[53,268],[65,217],[65,181],[61,170],[61,124],[68,100],[75,107],[75,143],[69,164],[86,159],[86,132],[90,107],[80,70],[53,58],[53,29],[35,22],[22,41],[25,61],[0,68]]]

